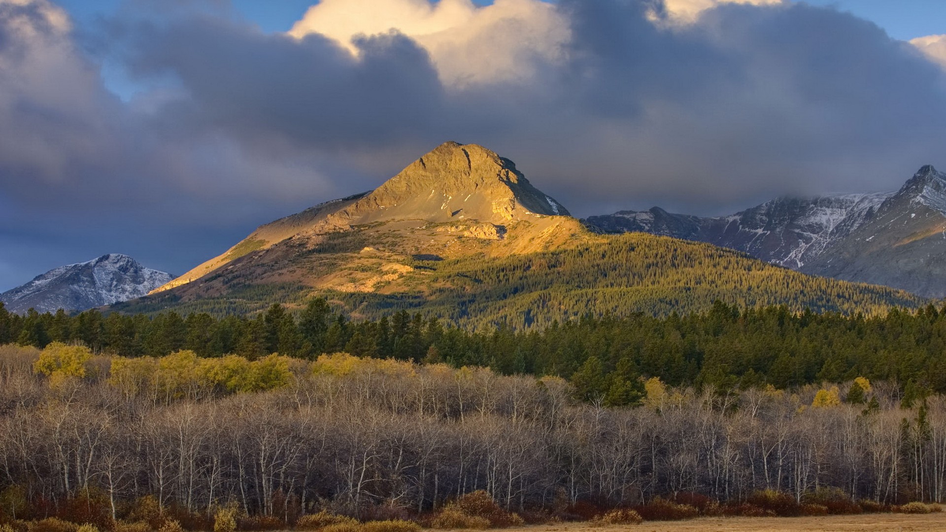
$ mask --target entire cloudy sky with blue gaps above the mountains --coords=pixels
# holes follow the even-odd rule
[[[579,216],[946,168],[940,0],[0,0],[0,292],[181,274],[447,140]]]

